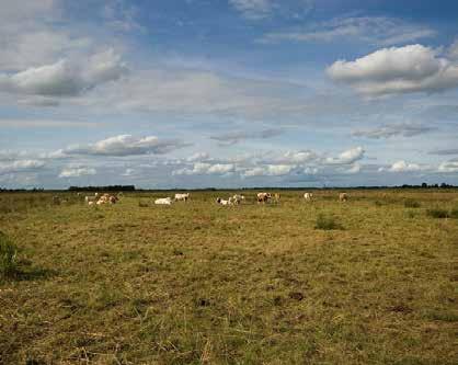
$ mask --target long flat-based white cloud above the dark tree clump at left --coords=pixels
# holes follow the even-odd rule
[[[179,139],[161,140],[156,136],[138,138],[131,135],[121,135],[91,145],[70,146],[64,150],[64,153],[90,156],[163,155],[186,146],[190,145]]]

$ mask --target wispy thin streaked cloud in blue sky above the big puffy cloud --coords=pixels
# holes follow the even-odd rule
[[[436,32],[427,26],[411,24],[398,19],[351,16],[313,24],[305,30],[267,33],[261,42],[342,42],[351,39],[379,46],[390,46],[434,35],[436,35]]]

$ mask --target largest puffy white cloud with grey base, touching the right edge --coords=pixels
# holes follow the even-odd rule
[[[382,48],[327,69],[336,82],[367,95],[438,92],[458,87],[458,65],[420,44]]]

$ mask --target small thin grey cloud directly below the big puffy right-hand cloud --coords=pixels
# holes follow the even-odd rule
[[[371,139],[380,139],[380,138],[391,138],[391,137],[414,137],[422,134],[426,134],[437,128],[430,127],[426,125],[421,124],[393,124],[387,125],[383,127],[371,128],[371,129],[364,129],[364,130],[354,130],[352,132],[352,136],[354,137],[365,137]]]

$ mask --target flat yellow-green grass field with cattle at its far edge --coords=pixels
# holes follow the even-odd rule
[[[458,364],[458,191],[244,193],[0,194],[0,363]]]

